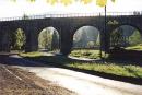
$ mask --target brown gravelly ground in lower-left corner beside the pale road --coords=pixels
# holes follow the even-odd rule
[[[32,72],[5,64],[0,57],[0,95],[74,95],[73,92],[43,80]]]

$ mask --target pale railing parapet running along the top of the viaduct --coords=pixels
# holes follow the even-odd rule
[[[142,12],[107,12],[107,16],[120,16],[120,15],[142,15]],[[48,19],[48,17],[81,17],[81,16],[104,16],[104,12],[96,13],[48,13],[48,14],[38,14],[38,15],[27,15],[27,19],[23,16],[15,17],[2,17],[1,21],[16,21],[16,20],[34,20],[34,19]]]

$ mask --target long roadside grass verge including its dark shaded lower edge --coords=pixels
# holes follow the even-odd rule
[[[40,56],[40,52],[21,54],[22,57],[44,62],[54,67],[62,67],[113,80],[142,84],[142,67],[133,61],[79,61],[62,56]]]

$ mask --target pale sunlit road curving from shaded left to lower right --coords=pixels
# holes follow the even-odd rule
[[[48,67],[10,56],[7,63],[36,73],[45,80],[71,90],[78,95],[142,95],[142,86],[103,79],[72,70]]]

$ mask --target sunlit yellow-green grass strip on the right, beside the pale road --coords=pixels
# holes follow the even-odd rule
[[[83,70],[92,70],[104,73],[110,73],[121,76],[132,76],[142,79],[142,68],[137,66],[120,66],[115,63],[70,63],[68,67],[79,68]]]

